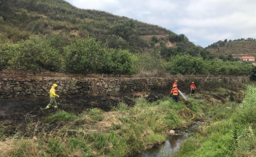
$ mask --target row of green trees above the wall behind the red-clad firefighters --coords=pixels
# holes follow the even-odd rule
[[[200,55],[177,55],[171,57],[167,69],[172,74],[207,74],[213,75],[249,75],[251,65],[242,62],[232,62],[218,59],[204,60]]]

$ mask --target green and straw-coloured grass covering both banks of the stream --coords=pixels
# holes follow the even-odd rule
[[[243,107],[235,102],[211,105],[189,98],[193,113],[211,116],[211,121],[191,134],[174,156],[255,155],[255,94],[254,86],[249,86]],[[171,98],[156,102],[138,98],[134,107],[120,102],[108,113],[98,108],[79,116],[58,111],[43,123],[61,121],[64,126],[45,132],[37,140],[22,139],[0,156],[132,156],[163,143],[170,129],[193,124],[180,114],[184,107]]]

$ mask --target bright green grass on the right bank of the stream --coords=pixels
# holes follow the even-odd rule
[[[249,85],[241,104],[228,102],[210,108],[210,124],[183,143],[175,156],[255,156],[256,88]],[[214,114],[213,114],[214,113]]]

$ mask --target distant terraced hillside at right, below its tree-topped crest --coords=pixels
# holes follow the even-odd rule
[[[208,48],[208,50],[216,56],[233,55],[233,57],[254,56],[256,57],[255,41],[230,41],[225,43],[224,47]]]

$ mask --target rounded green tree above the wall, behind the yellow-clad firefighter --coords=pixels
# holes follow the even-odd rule
[[[15,44],[14,56],[10,60],[13,69],[39,72],[43,70],[59,71],[63,58],[57,50],[52,49],[45,39],[34,36],[29,40]]]

